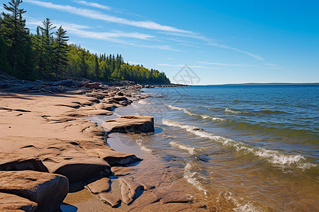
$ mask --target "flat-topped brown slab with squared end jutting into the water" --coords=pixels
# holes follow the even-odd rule
[[[154,132],[154,117],[125,116],[103,122],[102,126],[111,132],[120,133],[151,133]]]

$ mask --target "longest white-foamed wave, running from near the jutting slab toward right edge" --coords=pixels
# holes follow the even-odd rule
[[[261,158],[267,159],[269,163],[273,163],[277,165],[294,164],[297,167],[302,169],[317,166],[312,163],[304,162],[306,158],[303,155],[286,155],[284,153],[280,153],[278,151],[272,151],[266,148],[257,148],[240,141],[235,141],[233,139],[226,139],[222,136],[216,136],[215,134],[206,132],[203,129],[198,128],[197,126],[191,126],[191,125],[183,124],[180,122],[174,122],[169,119],[164,119],[162,123],[167,126],[174,126],[180,129],[185,129],[186,131],[189,131],[192,134],[195,134],[196,136],[200,136],[206,139],[211,139],[213,141],[223,144],[224,146],[231,146],[235,148],[236,151],[240,151],[241,153],[244,153],[244,154],[252,153]]]

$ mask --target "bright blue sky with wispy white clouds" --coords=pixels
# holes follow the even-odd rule
[[[204,85],[319,82],[317,0],[23,0],[21,8],[31,33],[50,18],[69,43],[122,54],[172,83],[185,70]]]

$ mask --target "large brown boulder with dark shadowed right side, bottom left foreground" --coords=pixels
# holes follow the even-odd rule
[[[1,171],[0,192],[34,201],[37,211],[56,211],[69,192],[69,181],[67,177],[45,172]]]

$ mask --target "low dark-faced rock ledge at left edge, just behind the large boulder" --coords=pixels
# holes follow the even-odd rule
[[[0,171],[20,171],[20,170],[35,170],[38,172],[48,172],[47,167],[43,165],[38,158],[4,158],[0,154]]]

